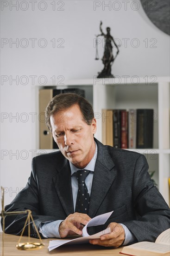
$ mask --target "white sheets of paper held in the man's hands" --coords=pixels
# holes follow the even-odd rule
[[[98,225],[103,225],[107,222],[108,218],[111,216],[112,212],[107,212],[104,214],[101,214],[99,216],[94,217],[91,219],[86,226],[82,229],[82,237],[78,237],[72,240],[52,240],[49,243],[49,251],[56,249],[57,247],[63,245],[63,244],[78,244],[78,243],[88,243],[89,239],[97,239],[100,238],[100,236],[104,234],[110,233],[110,228],[104,229],[103,231],[96,233],[94,235],[89,236],[88,235],[88,227],[93,227],[93,226],[98,226]]]

